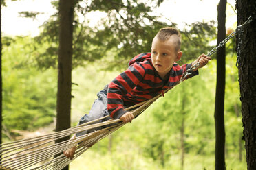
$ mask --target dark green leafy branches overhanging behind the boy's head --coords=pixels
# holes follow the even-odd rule
[[[55,7],[58,4],[52,2]],[[88,62],[98,61],[101,69],[114,69],[127,66],[136,54],[151,50],[151,40],[161,27],[175,27],[175,23],[153,14],[162,1],[78,1],[74,14],[74,53],[72,68],[86,66]],[[98,23],[92,25],[93,14]],[[29,16],[29,15],[28,15]],[[35,38],[36,63],[41,68],[56,67],[58,48],[58,14],[54,14],[42,27],[40,36]],[[163,20],[162,20],[163,21]],[[209,49],[209,41],[215,36],[211,23],[187,25],[189,31],[181,30],[183,35],[184,59],[195,58]],[[191,31],[191,34],[190,34]],[[206,36],[207,35],[207,36]],[[48,45],[45,46],[45,42]]]

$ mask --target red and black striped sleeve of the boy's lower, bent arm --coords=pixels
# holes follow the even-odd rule
[[[145,75],[145,68],[140,62],[135,62],[118,75],[110,84],[107,92],[107,110],[111,117],[119,119],[127,112],[124,109],[122,96],[131,92]]]

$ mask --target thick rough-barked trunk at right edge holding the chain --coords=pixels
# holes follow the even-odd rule
[[[237,25],[249,16],[253,22],[244,26],[239,45],[239,86],[242,103],[242,123],[246,149],[247,169],[256,169],[256,1],[237,0]]]

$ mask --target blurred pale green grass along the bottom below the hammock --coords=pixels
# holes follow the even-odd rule
[[[96,146],[95,146],[96,147]],[[96,148],[85,151],[70,164],[71,170],[169,170],[182,169],[180,155],[173,155],[164,167],[159,162],[146,158],[136,149],[123,148],[123,150],[111,153],[100,154]],[[184,170],[213,170],[215,169],[215,158],[211,156],[186,154]],[[227,170],[246,170],[246,162],[239,162],[237,159],[226,159]]]

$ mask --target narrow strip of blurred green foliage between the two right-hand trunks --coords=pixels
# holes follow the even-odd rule
[[[232,45],[231,45],[232,44]],[[232,39],[228,47],[235,47],[235,38]],[[227,50],[228,51],[228,50]],[[231,54],[231,53],[230,53]],[[228,55],[226,62],[226,94],[225,94],[225,124],[226,124],[226,158],[228,152],[236,149],[239,161],[242,161],[242,154],[244,151],[242,141],[242,114],[241,101],[239,101],[239,83],[238,83],[238,69],[235,67],[236,53]],[[229,148],[228,148],[229,147]],[[233,156],[232,156],[233,157]]]

